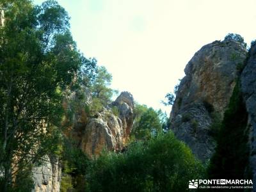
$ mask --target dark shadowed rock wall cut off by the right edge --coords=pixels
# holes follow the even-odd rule
[[[256,45],[250,49],[246,67],[241,75],[241,86],[248,112],[250,145],[250,170],[253,174],[253,189],[256,190]]]

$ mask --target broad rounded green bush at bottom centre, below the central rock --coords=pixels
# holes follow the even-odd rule
[[[104,152],[87,173],[90,191],[186,191],[204,167],[168,132],[131,143],[123,154]]]

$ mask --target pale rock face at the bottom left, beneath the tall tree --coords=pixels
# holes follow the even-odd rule
[[[58,192],[61,182],[61,165],[57,159],[45,156],[43,164],[33,168],[33,181],[35,184],[32,192]]]

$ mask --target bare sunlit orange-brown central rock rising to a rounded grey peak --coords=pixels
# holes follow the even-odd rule
[[[118,115],[114,115],[112,108],[115,107]],[[134,99],[129,92],[122,92],[108,109],[104,108],[93,118],[79,121],[80,128],[75,131],[80,147],[89,156],[98,155],[104,148],[107,150],[121,150],[132,129]],[[81,113],[83,114],[83,113]],[[81,118],[79,118],[81,119]],[[83,118],[85,120],[85,118]],[[74,138],[74,137],[73,137]]]

